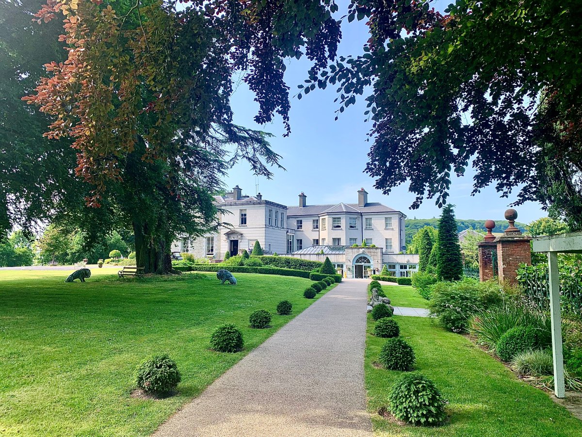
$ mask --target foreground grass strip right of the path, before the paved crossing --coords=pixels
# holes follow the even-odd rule
[[[501,363],[459,334],[446,332],[428,318],[395,316],[401,335],[414,348],[417,371],[432,379],[445,399],[450,415],[439,428],[400,426],[372,416],[377,436],[574,436],[582,435],[582,422],[548,395],[521,382]],[[388,407],[389,387],[401,372],[378,369],[385,339],[371,335],[368,315],[365,383],[368,409]]]

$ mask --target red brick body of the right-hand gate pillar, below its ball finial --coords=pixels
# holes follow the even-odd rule
[[[531,237],[526,235],[502,235],[495,239],[497,243],[497,262],[499,280],[517,283],[517,268],[520,263],[531,265]]]

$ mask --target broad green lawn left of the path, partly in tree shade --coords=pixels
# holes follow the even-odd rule
[[[295,277],[237,273],[236,286],[221,286],[215,273],[118,280],[113,272],[93,269],[84,284],[64,283],[64,271],[0,272],[0,435],[150,435],[315,301],[303,298],[311,281]],[[276,315],[282,299],[292,315]],[[274,313],[273,327],[251,329],[255,309]],[[244,351],[208,350],[226,322],[243,330]],[[182,372],[178,396],[130,397],[136,365],[165,352]]]

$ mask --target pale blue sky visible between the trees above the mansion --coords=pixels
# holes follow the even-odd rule
[[[449,3],[450,1],[438,1],[435,2],[435,7],[443,10]],[[339,1],[339,6],[339,12],[343,15],[347,10],[347,1]],[[361,47],[368,39],[367,27],[355,20],[352,23],[344,20],[342,33],[338,54],[360,54]],[[301,100],[294,97],[297,84],[303,83],[307,77],[309,66],[307,59],[288,62],[285,80],[293,97],[290,111],[292,131],[287,138],[283,137],[285,130],[281,118],[275,118],[271,124],[264,126],[255,124],[253,117],[257,113],[258,105],[254,101],[254,94],[242,81],[242,76],[237,81],[232,98],[236,124],[274,134],[275,137],[270,140],[271,146],[283,157],[281,164],[286,168],[274,169],[275,176],[271,180],[258,178],[258,191],[264,199],[284,205],[297,205],[297,196],[303,191],[307,195],[307,203],[312,205],[353,203],[357,202],[357,190],[363,187],[369,193],[370,202],[382,202],[410,218],[438,217],[440,210],[432,199],[425,200],[420,209],[409,209],[415,196],[408,192],[408,184],[393,189],[388,196],[373,188],[374,179],[363,172],[370,149],[370,143],[366,142],[370,122],[364,122],[363,97],[343,112],[338,121],[334,121],[334,111],[338,109],[338,105],[333,103],[337,97],[336,87],[316,89]],[[500,198],[492,186],[471,196],[473,175],[474,172],[469,168],[464,177],[454,178],[452,181],[449,203],[456,205],[456,216],[502,220],[503,212],[516,197]],[[244,194],[253,195],[255,179],[249,165],[241,162],[229,171],[225,184],[229,188],[239,185]],[[546,216],[538,203],[528,202],[516,209],[519,214],[517,221],[524,223]]]

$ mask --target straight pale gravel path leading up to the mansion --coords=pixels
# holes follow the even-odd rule
[[[157,437],[371,437],[367,281],[344,280],[215,380]]]

